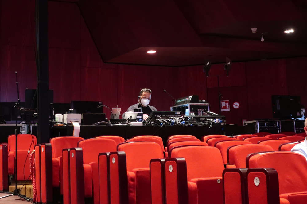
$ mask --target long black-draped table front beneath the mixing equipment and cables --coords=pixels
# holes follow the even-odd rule
[[[201,138],[208,134],[224,134],[223,125],[218,123],[208,126],[80,126],[79,136],[88,139],[100,135],[116,135],[125,139],[132,138],[137,135],[156,135],[160,136],[166,145],[167,138],[175,134],[190,134],[197,138]],[[52,137],[71,136],[73,126],[54,126],[52,127]]]

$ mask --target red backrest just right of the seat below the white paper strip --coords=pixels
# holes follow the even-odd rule
[[[78,147],[82,148],[84,164],[98,162],[99,153],[115,152],[116,146],[114,140],[104,138],[85,139],[78,142]]]

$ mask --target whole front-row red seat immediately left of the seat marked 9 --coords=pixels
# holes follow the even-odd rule
[[[155,142],[125,142],[110,153],[111,203],[151,203],[150,160],[163,158]]]

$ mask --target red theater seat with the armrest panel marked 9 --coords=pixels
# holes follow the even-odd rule
[[[164,168],[166,203],[223,203],[224,165],[217,148],[180,146],[171,154]]]

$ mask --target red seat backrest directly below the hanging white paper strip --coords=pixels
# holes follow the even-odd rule
[[[52,157],[53,158],[61,157],[63,149],[78,147],[78,142],[80,140],[83,140],[83,138],[73,137],[73,136],[51,138],[50,143],[52,149]]]

